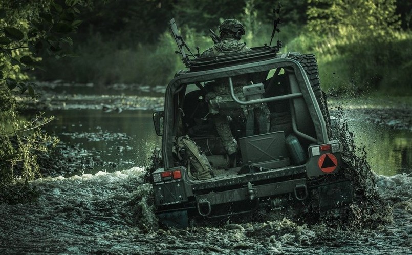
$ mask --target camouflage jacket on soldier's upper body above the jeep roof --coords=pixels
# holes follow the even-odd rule
[[[218,42],[214,46],[205,50],[199,56],[199,58],[224,56],[224,55],[247,52],[247,51],[251,51],[251,49],[246,46],[245,42],[239,42],[236,39],[229,38],[221,42]]]

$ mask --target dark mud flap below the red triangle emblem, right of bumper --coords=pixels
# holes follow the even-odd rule
[[[319,209],[331,210],[349,205],[353,201],[351,181],[335,182],[318,187]]]

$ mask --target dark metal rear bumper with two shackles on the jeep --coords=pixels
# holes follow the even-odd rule
[[[169,190],[170,191],[170,190]],[[285,196],[286,195],[286,196]],[[326,211],[340,208],[350,204],[353,201],[353,192],[351,181],[338,180],[320,185],[311,186],[307,183],[306,178],[268,183],[262,185],[252,185],[250,182],[240,188],[233,188],[220,192],[209,192],[207,194],[196,195],[180,203],[170,203],[157,207],[157,214],[167,214],[176,211],[191,210],[192,213],[203,217],[220,217],[236,215],[240,213],[249,213],[255,210],[259,204],[274,205],[275,200],[287,198],[288,202],[299,203],[305,201],[305,204],[314,202],[317,210]],[[249,204],[252,207],[237,206],[223,215],[220,210],[222,206],[230,204]]]

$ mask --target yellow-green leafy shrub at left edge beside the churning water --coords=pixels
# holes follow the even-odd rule
[[[52,118],[19,117],[18,103],[5,87],[0,87],[0,101],[0,202],[30,202],[37,192],[28,181],[40,176],[37,155],[58,142],[40,129]]]

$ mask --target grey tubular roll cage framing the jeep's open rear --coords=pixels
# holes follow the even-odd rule
[[[268,70],[276,69],[276,68],[284,68],[286,73],[288,73],[289,76],[293,76],[290,82],[290,87],[291,87],[290,94],[272,96],[272,97],[262,98],[262,99],[253,99],[253,100],[247,100],[247,101],[241,101],[236,98],[236,96],[234,95],[234,88],[233,88],[233,82],[232,82],[231,77],[240,75],[240,74],[246,74],[246,73],[268,71]],[[291,58],[283,58],[283,57],[276,57],[272,59],[238,65],[236,66],[236,69],[234,69],[233,67],[222,67],[222,68],[217,68],[214,70],[204,70],[204,71],[198,71],[198,72],[190,71],[190,72],[186,72],[184,74],[176,76],[173,80],[169,82],[166,88],[164,109],[165,109],[165,116],[168,117],[167,121],[173,121],[171,119],[176,117],[175,108],[178,107],[178,105],[174,107],[174,102],[177,100],[176,98],[176,95],[178,94],[177,91],[181,91],[182,86],[184,87],[186,86],[186,84],[196,84],[196,82],[214,80],[216,78],[225,78],[225,77],[228,78],[229,80],[230,94],[234,102],[240,105],[252,105],[252,104],[258,104],[258,103],[275,102],[275,101],[280,101],[280,100],[291,99],[289,100],[289,103],[291,106],[290,109],[291,109],[291,115],[292,115],[292,128],[293,128],[293,131],[296,133],[296,135],[300,136],[301,138],[307,139],[312,143],[316,143],[316,144],[324,144],[329,141],[329,138],[327,135],[326,122],[323,119],[321,110],[316,101],[315,95],[312,91],[312,88],[311,88],[309,79],[305,73],[305,70],[303,70],[300,63],[297,62],[296,60],[291,59]],[[309,114],[311,115],[314,126],[315,126],[316,138],[311,137],[305,133],[302,133],[297,129],[296,112],[293,107],[293,101],[298,98],[303,98],[303,100],[306,102],[306,105],[309,110]],[[171,116],[173,116],[173,118],[170,118]],[[176,125],[176,124],[163,125],[163,139],[162,139],[163,152],[162,153],[163,155],[166,155],[164,157],[164,163],[165,163],[166,169],[170,168],[173,162],[172,155],[168,153],[168,152],[171,152],[171,148],[172,148],[171,138],[176,135],[176,134],[173,134],[175,130],[175,127],[173,125]]]

